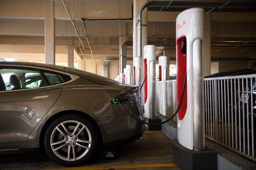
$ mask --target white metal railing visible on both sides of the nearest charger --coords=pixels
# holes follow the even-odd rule
[[[205,78],[204,85],[205,136],[256,161],[256,74]],[[160,115],[173,115],[175,80],[157,81],[156,101]]]

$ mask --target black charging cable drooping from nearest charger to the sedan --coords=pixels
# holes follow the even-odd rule
[[[145,77],[145,79],[146,79],[146,77]],[[144,81],[145,81],[145,79],[144,79]],[[186,83],[187,83],[187,73],[185,74],[184,83],[183,83],[183,88],[182,88],[182,92],[181,92],[181,100],[180,100],[180,102],[179,102],[179,105],[178,105],[178,107],[177,107],[175,113],[174,113],[169,119],[165,120],[164,122],[160,122],[160,123],[147,123],[147,122],[144,122],[144,121],[142,121],[142,120],[136,118],[136,117],[135,117],[133,114],[131,114],[130,112],[128,112],[128,111],[123,107],[123,105],[119,102],[118,99],[116,99],[116,101],[117,101],[117,103],[122,107],[122,109],[128,113],[128,115],[130,115],[132,118],[134,118],[134,119],[137,120],[138,122],[143,123],[143,124],[146,124],[146,125],[161,125],[161,124],[164,124],[164,123],[170,121],[172,118],[174,118],[174,117],[177,115],[177,113],[178,113],[178,111],[179,111],[179,108],[181,107],[183,95],[184,95],[184,92],[185,92]]]

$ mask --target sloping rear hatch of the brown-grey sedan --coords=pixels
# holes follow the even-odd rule
[[[77,70],[77,69],[74,69],[74,68],[66,67],[65,70],[66,70],[67,73],[74,74],[75,76],[82,77],[84,79],[93,81],[93,82],[101,84],[101,85],[111,86],[111,87],[118,87],[118,88],[126,89],[126,90],[129,90],[129,91],[138,92],[139,86],[122,84],[118,81],[111,80],[111,79],[108,79],[106,77],[99,76],[97,74],[89,73],[89,72],[86,72],[86,71]]]

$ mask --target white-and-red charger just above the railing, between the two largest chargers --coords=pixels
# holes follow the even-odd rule
[[[159,65],[159,81],[167,80],[168,73],[168,64],[167,63],[167,56],[160,56],[158,57],[158,65]]]

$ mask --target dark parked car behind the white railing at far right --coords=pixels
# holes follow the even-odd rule
[[[205,78],[214,78],[214,77],[224,77],[224,76],[227,76],[227,77],[230,77],[230,76],[240,76],[240,75],[248,75],[248,74],[256,74],[256,69],[243,69],[243,70],[232,70],[232,71],[224,71],[224,72],[219,72],[219,73],[215,73],[215,74],[212,74],[210,76],[206,76]],[[225,80],[226,83],[225,83],[225,88],[227,89],[227,82],[229,83],[229,89],[231,90],[231,80]],[[233,89],[234,89],[234,80],[232,80],[232,83],[233,83]],[[244,85],[244,89],[243,86]],[[244,80],[244,83],[242,82],[242,80],[240,79],[239,81],[239,86],[240,86],[240,89],[238,90],[238,80],[236,80],[236,96],[237,96],[237,103],[234,103],[234,100],[233,100],[233,105],[231,104],[231,91],[230,91],[230,94],[229,94],[229,101],[230,103],[228,103],[228,100],[226,99],[226,105],[229,106],[230,108],[230,115],[228,115],[228,110],[226,108],[226,122],[228,122],[228,116],[230,117],[230,122],[231,122],[231,113],[233,110],[233,114],[235,114],[235,110],[237,110],[237,126],[239,126],[239,110],[240,110],[240,126],[243,127],[243,119],[244,119],[244,127],[245,129],[247,130],[248,129],[248,126],[247,126],[247,103],[248,103],[248,112],[249,112],[249,132],[251,133],[251,130],[252,130],[252,123],[251,123],[251,116],[252,116],[252,119],[253,119],[253,124],[254,124],[254,132],[256,131],[256,84],[255,84],[255,78],[252,78],[252,112],[251,112],[251,79],[249,78],[248,79],[248,96],[246,94],[246,80]],[[223,100],[224,100],[224,83],[222,85],[223,87]],[[220,86],[220,89],[221,90],[221,86]],[[228,91],[226,90],[226,97],[228,97]],[[244,93],[244,95],[243,95]],[[234,94],[233,94],[234,95]],[[238,98],[240,96],[240,98]],[[240,107],[239,107],[239,104],[240,104]],[[223,104],[224,105],[224,104]],[[231,107],[233,106],[233,107]],[[244,106],[244,107],[243,107]],[[243,111],[244,111],[244,116],[243,116]],[[235,115],[233,115],[235,116]],[[219,118],[220,121],[222,123],[224,123],[225,121],[225,117],[222,118],[220,117]],[[235,121],[235,118],[233,118],[233,121]],[[256,133],[254,133],[254,138],[256,138]],[[256,142],[256,141],[255,141]]]

